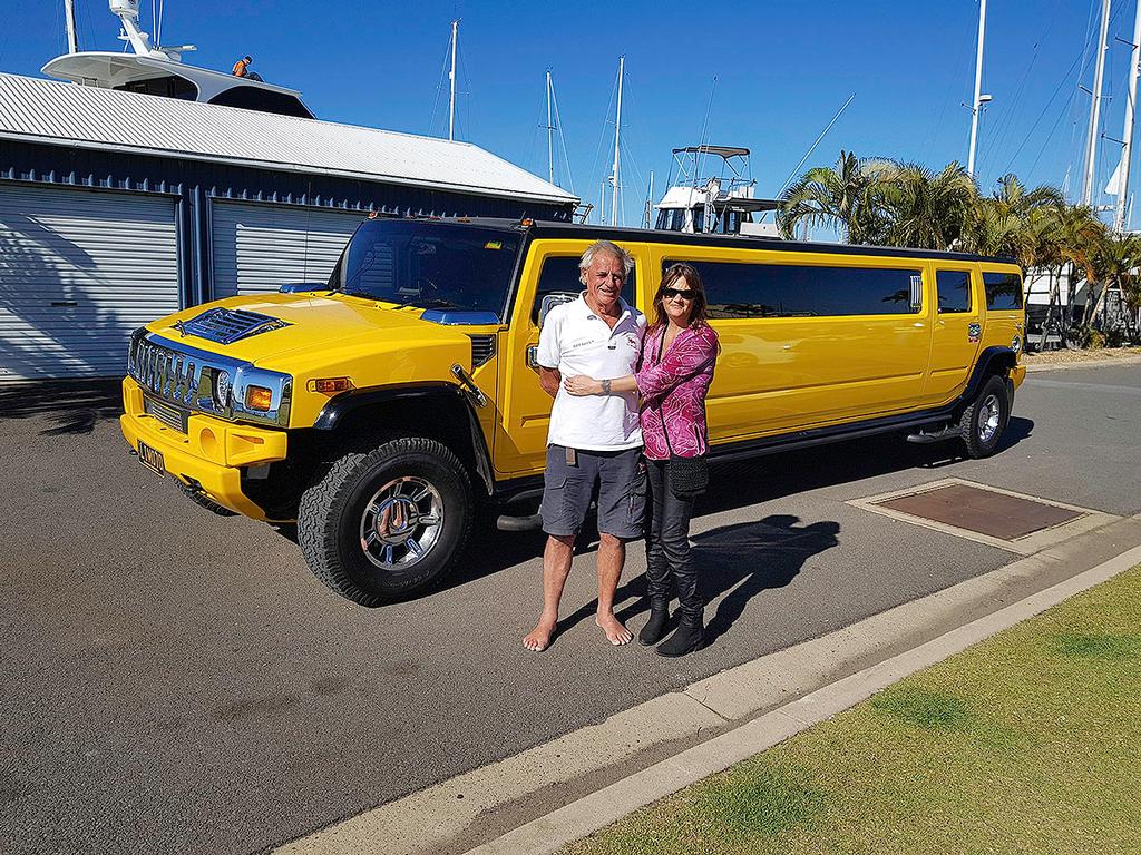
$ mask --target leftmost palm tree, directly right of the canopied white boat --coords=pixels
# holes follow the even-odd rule
[[[877,204],[883,161],[841,152],[835,169],[816,166],[794,181],[780,197],[777,225],[785,237],[798,226],[832,226],[852,244],[879,243],[883,215]]]

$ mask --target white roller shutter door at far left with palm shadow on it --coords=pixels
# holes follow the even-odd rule
[[[178,308],[173,199],[0,184],[0,383],[122,375]]]

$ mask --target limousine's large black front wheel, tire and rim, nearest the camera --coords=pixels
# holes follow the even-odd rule
[[[379,605],[452,568],[472,505],[467,470],[451,449],[400,437],[318,472],[301,496],[298,544],[325,585],[361,605]]]

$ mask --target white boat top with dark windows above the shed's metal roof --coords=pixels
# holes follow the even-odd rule
[[[71,1],[66,0],[71,26]],[[43,66],[49,78],[73,83],[143,92],[167,98],[220,104],[226,107],[257,109],[286,116],[313,119],[301,93],[293,89],[266,83],[260,78],[237,78],[233,74],[183,64],[183,54],[195,50],[193,44],[167,47],[153,43],[151,34],[139,28],[138,0],[107,0],[111,14],[122,23],[119,38],[133,52],[83,50],[75,47],[68,33],[71,51],[57,56]]]

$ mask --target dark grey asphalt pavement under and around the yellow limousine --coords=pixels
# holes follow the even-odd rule
[[[706,650],[605,644],[588,547],[536,656],[539,536],[484,532],[442,589],[364,610],[144,471],[116,410],[0,393],[5,853],[260,850],[1014,559],[848,499],[954,475],[1141,511],[1141,366],[1031,374],[987,461],[875,438],[715,470]],[[644,568],[631,549],[636,629]]]

